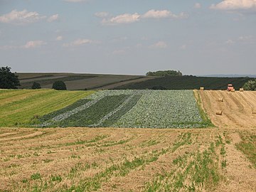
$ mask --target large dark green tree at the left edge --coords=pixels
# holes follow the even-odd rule
[[[18,76],[11,73],[11,68],[0,68],[0,89],[18,89],[21,86],[18,80]]]

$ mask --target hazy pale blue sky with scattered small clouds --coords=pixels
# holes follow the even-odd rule
[[[0,0],[16,72],[256,74],[256,0]]]

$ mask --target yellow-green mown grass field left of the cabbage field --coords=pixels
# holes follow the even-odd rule
[[[33,119],[60,110],[93,92],[0,90],[0,127],[27,127]]]

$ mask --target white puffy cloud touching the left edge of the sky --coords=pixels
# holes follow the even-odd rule
[[[37,12],[28,12],[26,9],[23,11],[17,11],[14,9],[9,14],[0,16],[1,23],[14,23],[14,24],[26,24],[34,23],[46,18],[46,16],[41,16]]]

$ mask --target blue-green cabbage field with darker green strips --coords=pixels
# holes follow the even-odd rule
[[[39,127],[207,127],[193,90],[102,90],[39,119]]]

